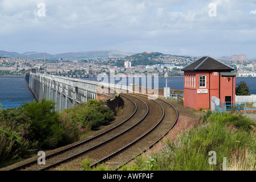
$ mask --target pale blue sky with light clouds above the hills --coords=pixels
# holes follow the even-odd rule
[[[0,50],[256,57],[255,0],[0,0]]]

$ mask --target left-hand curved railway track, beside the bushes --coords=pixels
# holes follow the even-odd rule
[[[127,98],[128,100],[131,100],[126,96],[123,96],[123,97]],[[67,162],[68,160],[74,159],[86,152],[95,150],[96,147],[102,146],[104,143],[107,143],[108,141],[117,137],[121,133],[124,133],[124,131],[130,129],[131,127],[135,127],[134,125],[142,121],[143,118],[145,118],[145,116],[148,114],[148,105],[145,102],[141,101],[140,99],[137,99],[136,102],[133,100],[131,101],[135,106],[135,110],[127,119],[125,119],[119,125],[112,127],[112,129],[109,129],[104,133],[96,135],[95,137],[92,137],[90,139],[84,140],[83,142],[75,144],[74,146],[65,148],[62,151],[46,156],[46,161],[47,161],[46,165],[38,165],[37,160],[34,160],[30,163],[15,167],[11,170],[32,170],[32,171],[46,170],[46,169],[58,166],[60,163],[64,163],[64,162]],[[132,122],[128,122],[128,121],[132,121]]]

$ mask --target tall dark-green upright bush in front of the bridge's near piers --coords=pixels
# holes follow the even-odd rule
[[[54,101],[26,102],[22,111],[31,119],[29,139],[38,141],[43,148],[57,147],[65,130],[55,111]]]

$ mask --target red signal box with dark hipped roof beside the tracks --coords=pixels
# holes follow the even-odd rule
[[[184,71],[184,106],[199,110],[212,109],[212,97],[224,102],[235,102],[234,68],[213,59],[201,57],[181,69]]]

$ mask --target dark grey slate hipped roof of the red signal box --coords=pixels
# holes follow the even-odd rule
[[[221,63],[212,57],[201,57],[200,59],[194,61],[194,63],[188,65],[187,67],[181,69],[181,71],[192,72],[192,71],[221,71],[221,72],[231,72],[234,68],[229,65]]]

